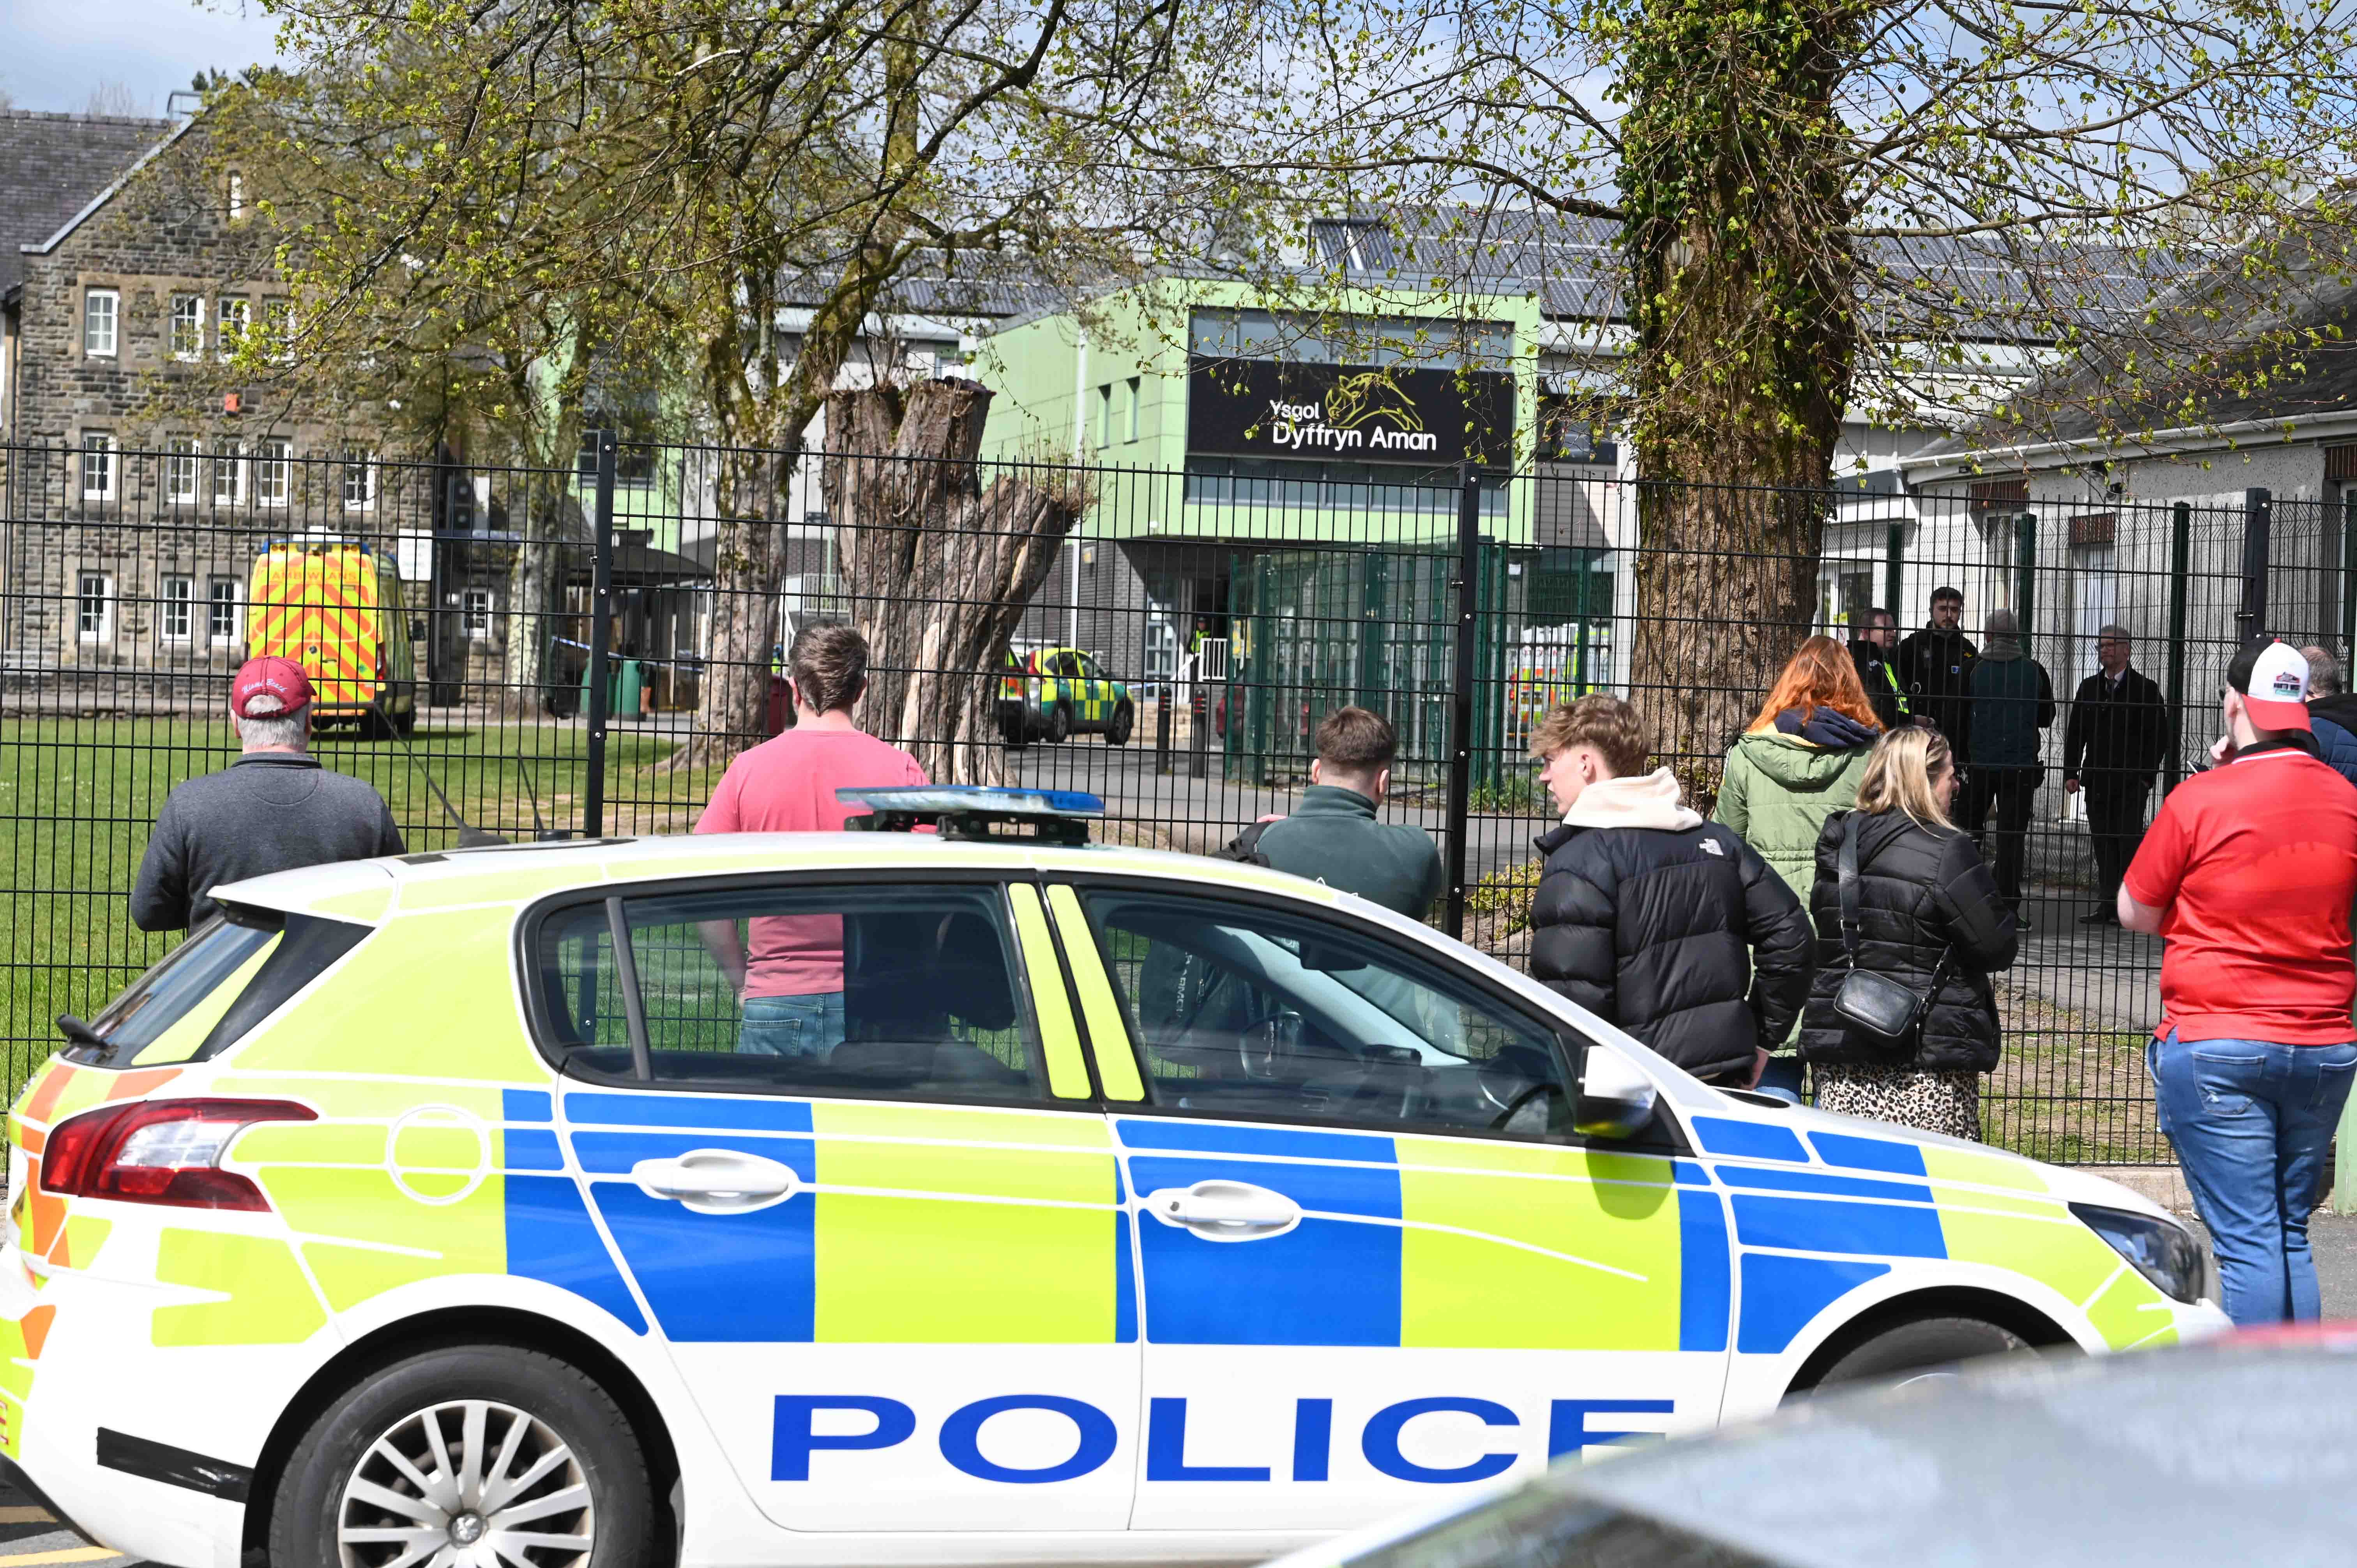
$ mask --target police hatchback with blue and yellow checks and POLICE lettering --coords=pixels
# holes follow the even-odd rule
[[[1348,894],[938,835],[283,872],[7,1122],[0,1471],[158,1563],[1244,1561],[2223,1327],[2107,1181],[1685,1078]]]

